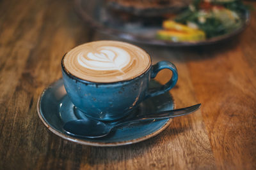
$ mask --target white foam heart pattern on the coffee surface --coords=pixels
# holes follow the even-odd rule
[[[114,46],[102,46],[100,53],[81,52],[77,56],[77,62],[87,68],[94,70],[119,70],[127,66],[131,56],[125,50]]]

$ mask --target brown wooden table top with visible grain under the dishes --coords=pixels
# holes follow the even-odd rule
[[[65,52],[111,37],[90,30],[72,1],[0,1],[0,169],[256,169],[255,16],[241,36],[220,45],[139,44],[154,63],[177,66],[176,108],[202,108],[147,141],[102,148],[52,134],[36,103],[61,78]],[[167,81],[166,71],[157,79]]]

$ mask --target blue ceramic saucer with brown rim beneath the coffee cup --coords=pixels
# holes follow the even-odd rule
[[[159,83],[156,81],[150,82],[150,87],[157,85],[159,85]],[[174,103],[172,96],[170,96],[169,92],[166,92],[165,94],[148,98],[140,103],[129,117],[173,109]],[[86,119],[87,117],[83,112],[77,110],[74,104],[70,101],[62,79],[52,83],[52,85],[42,92],[38,99],[37,111],[38,116],[44,125],[54,134],[67,139],[68,141],[91,146],[120,146],[138,143],[156,136],[166,129],[170,122],[172,122],[171,118],[166,118],[163,120],[150,120],[132,124],[128,127],[117,129],[104,138],[97,139],[76,138],[70,136],[63,131],[62,127],[65,122]]]

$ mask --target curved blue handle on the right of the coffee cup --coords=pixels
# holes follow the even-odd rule
[[[167,83],[162,85],[161,87],[148,89],[146,98],[163,94],[164,92],[172,89],[175,86],[175,84],[177,83],[177,80],[178,80],[177,69],[174,66],[174,64],[172,64],[172,62],[168,62],[168,61],[160,61],[160,62],[157,62],[157,64],[155,64],[154,66],[152,66],[150,78],[151,79],[155,78],[157,73],[159,71],[161,71],[162,69],[170,69],[172,71],[172,78]]]

